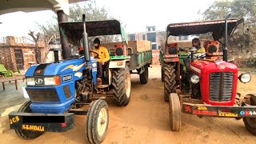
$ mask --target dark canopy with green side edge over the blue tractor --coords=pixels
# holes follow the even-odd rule
[[[61,33],[70,43],[77,42],[82,38],[82,22],[60,22],[59,26]],[[128,43],[128,36],[118,20],[88,21],[86,22],[86,32],[88,37],[121,34],[123,41]]]

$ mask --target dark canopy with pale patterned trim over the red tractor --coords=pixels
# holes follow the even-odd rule
[[[229,18],[227,20],[227,33],[232,35],[236,27],[243,22],[242,19]],[[166,28],[167,38],[172,36],[206,34],[212,32],[214,40],[219,40],[225,35],[225,19],[200,21],[200,22],[182,22],[171,23]]]

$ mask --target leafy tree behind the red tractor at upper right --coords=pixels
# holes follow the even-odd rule
[[[250,26],[248,34],[244,34],[244,26],[241,24],[230,38],[230,52],[233,54],[245,54],[252,56],[254,54],[255,35],[256,35],[256,0],[223,0],[213,2],[209,8],[202,12],[204,20],[222,19],[226,14],[231,14],[232,18],[244,18],[245,27]],[[248,25],[249,24],[249,25]]]

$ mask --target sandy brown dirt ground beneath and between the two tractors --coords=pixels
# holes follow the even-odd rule
[[[160,67],[150,69],[150,80],[141,85],[138,75],[132,76],[132,95],[128,106],[118,107],[112,98],[110,123],[103,143],[256,143],[242,120],[234,118],[198,118],[182,114],[182,130],[172,132],[169,124],[168,103],[163,100]],[[242,94],[256,93],[256,74],[250,84],[239,82]],[[76,128],[65,133],[45,133],[34,140],[22,140],[9,130],[0,135],[0,143],[88,143],[86,117],[76,116]]]

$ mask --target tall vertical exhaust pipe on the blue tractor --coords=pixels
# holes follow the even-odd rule
[[[89,45],[88,45],[88,35],[86,33],[86,15],[82,14],[82,25],[83,25],[83,47],[84,47],[84,53],[85,53],[85,59],[86,62],[90,62],[90,51],[89,51]]]

